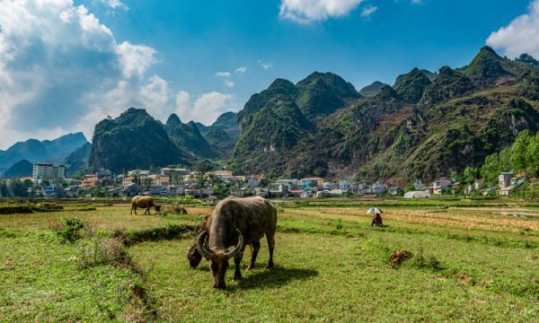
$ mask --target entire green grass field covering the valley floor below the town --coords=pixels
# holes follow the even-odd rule
[[[384,208],[371,228],[367,207]],[[384,206],[383,206],[384,205]],[[84,235],[51,230],[77,217],[93,232],[150,233],[198,224],[185,214],[130,215],[128,205],[0,215],[0,321],[539,321],[539,204],[488,200],[328,200],[278,203],[275,263],[216,291],[205,261],[190,269],[193,236],[126,247],[129,261],[81,266]],[[86,208],[87,209],[87,208]],[[148,234],[145,235],[147,237]],[[93,236],[95,237],[95,236]],[[110,238],[111,239],[111,238]],[[170,239],[170,240],[168,240]],[[412,258],[389,262],[395,250]]]

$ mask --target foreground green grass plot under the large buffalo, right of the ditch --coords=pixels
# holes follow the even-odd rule
[[[281,233],[277,267],[263,269],[268,259],[263,244],[259,268],[245,271],[244,260],[244,280],[235,283],[232,266],[225,292],[211,287],[207,264],[190,269],[183,252],[190,240],[145,242],[131,251],[141,266],[151,268],[147,284],[162,301],[165,320],[526,322],[539,315],[539,292],[523,289],[539,284],[532,250],[406,238],[386,232],[363,239]],[[412,252],[424,246],[446,269],[393,269],[386,246]]]

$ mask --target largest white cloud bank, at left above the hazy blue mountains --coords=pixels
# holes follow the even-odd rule
[[[0,146],[69,131],[91,137],[95,122],[129,106],[173,111],[168,84],[145,77],[155,54],[118,45],[71,0],[0,1]]]

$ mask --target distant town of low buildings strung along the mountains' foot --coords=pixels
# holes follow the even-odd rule
[[[508,196],[513,188],[526,183],[526,178],[513,172],[499,173],[499,185],[487,187],[476,179],[465,185],[455,179],[440,178],[429,185],[419,179],[407,188],[383,182],[359,183],[349,180],[326,181],[323,178],[268,179],[264,174],[234,174],[230,170],[211,170],[209,162],[201,162],[195,170],[180,167],[128,170],[114,174],[99,170],[91,174],[66,177],[66,167],[55,162],[35,162],[31,177],[4,179],[0,196],[20,197],[129,197],[129,196],[193,196],[216,201],[225,196],[263,196],[316,198],[331,196],[403,196],[427,198],[441,195]]]

